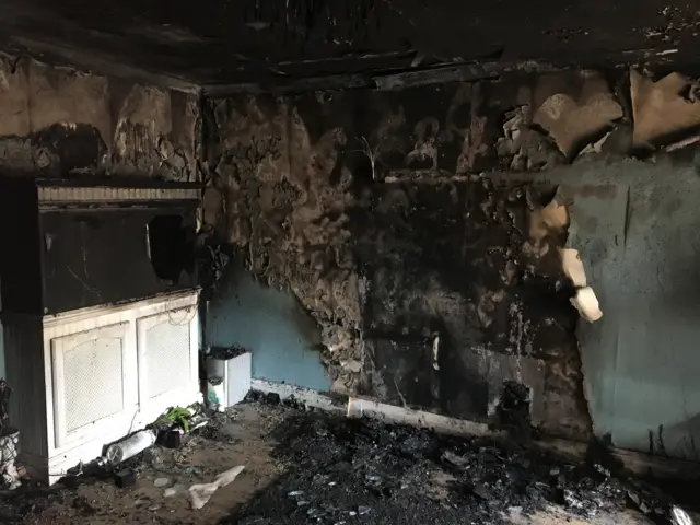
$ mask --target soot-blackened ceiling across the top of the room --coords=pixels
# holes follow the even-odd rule
[[[0,46],[183,85],[470,61],[698,62],[700,0],[1,0]]]

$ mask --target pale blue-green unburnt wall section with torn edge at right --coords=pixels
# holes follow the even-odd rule
[[[568,243],[605,312],[578,328],[595,435],[692,460],[700,459],[699,168],[690,150],[654,163],[592,159],[515,177],[557,185],[571,201]]]

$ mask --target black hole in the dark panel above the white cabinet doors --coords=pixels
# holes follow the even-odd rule
[[[183,215],[159,215],[147,225],[148,255],[159,279],[177,284],[195,267],[194,238]]]

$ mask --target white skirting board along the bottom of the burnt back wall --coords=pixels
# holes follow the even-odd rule
[[[252,386],[254,390],[264,394],[278,394],[282,400],[293,397],[308,407],[329,412],[345,413],[349,418],[372,418],[386,423],[408,424],[432,430],[440,434],[464,438],[504,439],[506,436],[503,432],[490,429],[486,423],[450,418],[447,416],[415,410],[408,407],[387,405],[372,399],[328,395],[310,388],[272,383],[264,380],[253,380]],[[560,454],[575,462],[584,460],[587,452],[586,443],[560,439],[539,440],[532,444],[541,451]],[[611,448],[610,453],[632,474],[651,474],[661,478],[697,478],[698,464],[693,462],[650,456],[648,454],[620,448]]]

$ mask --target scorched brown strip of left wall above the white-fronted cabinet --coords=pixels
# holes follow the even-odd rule
[[[197,96],[0,56],[0,170],[195,180]]]

